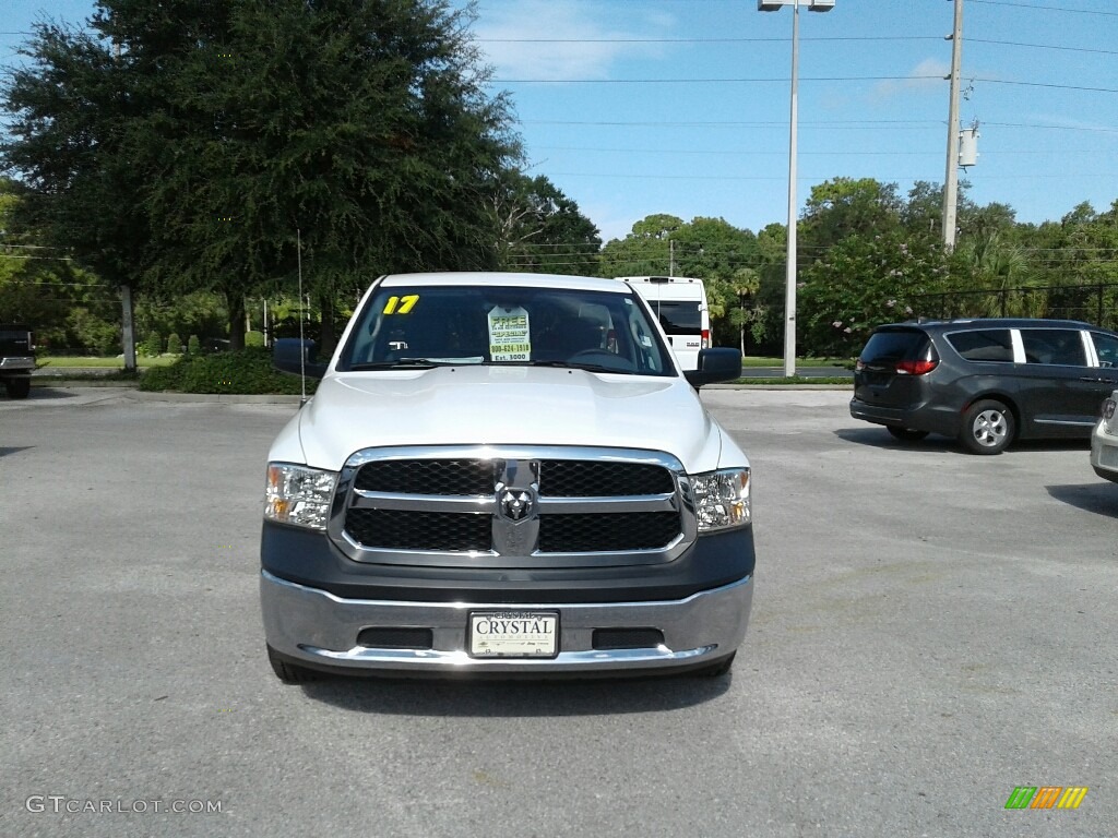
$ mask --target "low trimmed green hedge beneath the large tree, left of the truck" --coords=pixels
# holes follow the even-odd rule
[[[307,392],[318,382],[307,380]],[[300,379],[276,371],[271,353],[260,349],[238,352],[216,352],[210,355],[187,354],[168,366],[144,372],[140,389],[159,392],[176,390],[186,393],[299,393]]]

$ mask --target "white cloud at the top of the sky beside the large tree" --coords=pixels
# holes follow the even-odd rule
[[[608,78],[617,61],[660,51],[654,44],[623,42],[656,36],[612,29],[578,0],[487,3],[480,11],[474,32],[500,78]],[[671,25],[666,17],[645,20],[659,29]]]

